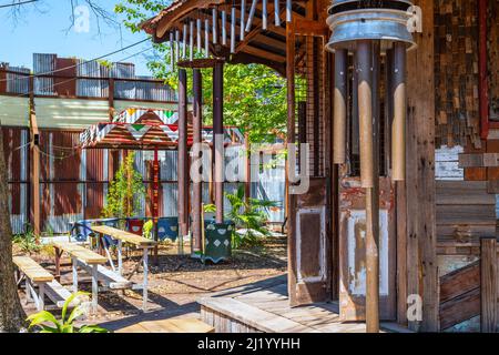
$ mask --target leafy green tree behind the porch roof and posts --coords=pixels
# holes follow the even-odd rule
[[[140,31],[139,24],[155,16],[171,1],[121,0],[114,10],[126,17],[125,26]],[[170,68],[169,44],[154,44],[156,55],[147,63],[151,71],[173,89],[177,88],[177,73]],[[197,53],[194,54],[198,57]],[[204,120],[210,123],[212,112],[212,78],[203,70]],[[192,75],[192,71],[187,71]],[[192,78],[190,78],[192,82]],[[286,132],[286,81],[273,69],[262,64],[227,64],[224,67],[224,123],[237,125],[248,132],[251,142],[273,142]]]

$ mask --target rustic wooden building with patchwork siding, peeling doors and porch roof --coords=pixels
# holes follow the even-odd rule
[[[370,313],[421,332],[458,324],[466,328],[466,322],[481,315],[482,331],[489,332],[497,326],[497,246],[489,239],[496,237],[492,201],[499,185],[498,1],[413,2],[417,8],[411,8],[409,20],[417,48],[407,53],[406,65],[397,55],[373,65],[387,78],[379,92],[373,91],[379,104],[379,112],[373,113],[357,104],[366,98],[359,83],[368,81],[358,74],[358,64],[367,61],[324,50],[332,34],[326,26],[329,1],[180,0],[142,26],[154,41],[170,42],[172,57],[182,59],[184,53],[176,51],[183,44],[181,34],[191,33],[193,44],[184,42],[191,51],[228,64],[262,63],[286,77],[287,143],[309,146],[309,164],[301,168],[309,176],[308,192],[287,196],[288,306],[339,301],[342,321],[363,322]],[[191,22],[195,27],[189,32],[184,24]],[[196,40],[204,45],[195,47]],[[345,87],[335,67],[346,68],[354,84]],[[387,75],[390,70],[396,75]],[[404,84],[404,73],[407,98],[400,91],[391,97],[390,90]],[[400,110],[404,102],[407,112]],[[339,132],[333,129],[335,112],[345,123]],[[363,173],[360,155],[366,152],[358,140],[359,133],[368,132],[360,118],[375,113],[379,134],[374,136],[375,159],[368,171],[378,170],[379,180]],[[461,181],[437,181],[436,150],[455,145],[465,153]],[[393,148],[395,154],[389,153]],[[298,154],[288,164],[307,155]],[[296,187],[292,178],[289,192]],[[367,209],[369,204],[375,210]],[[377,217],[379,241],[368,242],[366,231],[376,234]],[[379,262],[370,258],[366,265],[374,244]],[[480,277],[471,266],[478,260]],[[379,285],[366,287],[366,270],[376,266]],[[469,284],[462,291],[475,301],[454,294],[456,284]],[[445,290],[448,294],[442,296]],[[366,298],[378,305],[367,301],[366,311]],[[452,307],[467,314],[450,320]]]

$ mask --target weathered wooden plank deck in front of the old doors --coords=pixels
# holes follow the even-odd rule
[[[365,333],[363,323],[340,323],[337,303],[289,307],[286,277],[202,297],[201,318],[216,333]],[[406,333],[406,328],[383,323],[384,332]]]

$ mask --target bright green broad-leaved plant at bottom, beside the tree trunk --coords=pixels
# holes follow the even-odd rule
[[[48,311],[41,311],[30,315],[27,320],[28,322],[31,322],[29,329],[38,326],[41,328],[40,333],[109,333],[108,329],[104,329],[98,325],[83,325],[81,327],[74,326],[74,321],[85,313],[85,310],[81,304],[75,306],[71,314],[67,317],[69,305],[74,300],[88,295],[89,293],[86,292],[77,292],[72,294],[64,302],[61,320],[55,318],[55,316]],[[48,323],[51,324],[51,326],[47,325]]]

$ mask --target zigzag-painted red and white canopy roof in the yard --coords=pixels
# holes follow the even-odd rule
[[[191,120],[189,113],[187,121]],[[83,149],[177,149],[179,114],[164,109],[130,108],[118,114],[111,122],[94,124],[80,134]],[[213,129],[202,129],[203,142],[213,141]],[[244,136],[237,128],[224,128],[224,143],[243,143]],[[187,124],[187,145],[193,143],[192,125]]]

